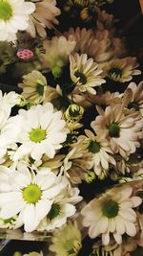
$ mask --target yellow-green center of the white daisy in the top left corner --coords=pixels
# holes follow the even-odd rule
[[[12,9],[8,0],[0,0],[0,20],[8,21],[12,16]]]

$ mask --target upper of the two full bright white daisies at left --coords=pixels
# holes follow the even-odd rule
[[[15,119],[21,128],[16,142],[21,145],[13,156],[14,160],[27,154],[40,160],[44,153],[52,158],[66,141],[69,131],[65,128],[66,122],[62,119],[62,112],[54,111],[51,103],[32,106],[28,111],[20,109]]]

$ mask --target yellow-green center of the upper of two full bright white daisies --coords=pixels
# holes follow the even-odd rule
[[[46,130],[43,128],[33,128],[30,132],[30,139],[33,142],[40,142],[46,139]]]

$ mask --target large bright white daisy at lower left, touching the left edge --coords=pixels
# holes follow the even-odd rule
[[[15,171],[8,169],[8,176],[9,183],[4,178],[0,181],[4,188],[0,193],[0,218],[7,220],[18,215],[15,228],[24,224],[25,230],[31,232],[50,212],[53,198],[66,183],[51,172],[34,175],[24,164],[19,164]]]

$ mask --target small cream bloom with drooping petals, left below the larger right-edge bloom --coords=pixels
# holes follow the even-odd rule
[[[109,142],[101,134],[94,135],[89,129],[85,130],[86,136],[79,136],[79,140],[91,152],[92,168],[96,175],[100,175],[102,170],[109,170],[109,164],[115,165],[115,160],[112,157],[112,150]]]

